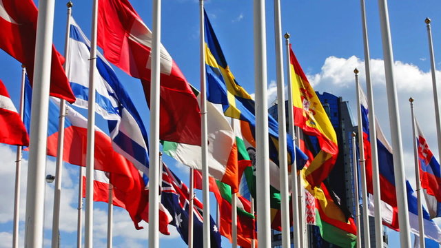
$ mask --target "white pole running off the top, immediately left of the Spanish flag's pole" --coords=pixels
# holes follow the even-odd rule
[[[285,81],[283,79],[282,21],[280,0],[274,0],[274,39],[276,41],[277,70],[277,111],[278,111],[278,161],[280,177],[280,211],[282,227],[282,246],[291,247],[289,229],[289,189],[288,189],[288,154],[287,154],[287,119],[285,116]]]

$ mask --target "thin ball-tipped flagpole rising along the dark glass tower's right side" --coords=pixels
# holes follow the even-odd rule
[[[360,176],[361,176],[361,197],[363,203],[363,234],[365,236],[365,247],[371,247],[371,237],[369,234],[369,209],[367,207],[367,185],[366,185],[366,160],[365,146],[363,141],[363,125],[361,119],[361,102],[360,102],[360,83],[358,82],[358,70],[353,70],[356,74],[356,95],[357,95],[357,116],[358,116],[358,150],[360,151]]]

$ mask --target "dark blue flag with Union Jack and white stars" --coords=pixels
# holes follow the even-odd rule
[[[189,190],[164,163],[161,202],[173,217],[172,225],[181,234],[181,238],[188,244],[188,216],[189,216]],[[194,223],[193,239],[194,247],[203,247],[203,205],[194,197]],[[220,248],[220,234],[218,226],[210,216],[211,244],[209,247]]]

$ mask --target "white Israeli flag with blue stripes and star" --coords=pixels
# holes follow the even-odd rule
[[[70,84],[76,96],[74,105],[88,108],[90,41],[71,17]],[[145,126],[132,99],[116,77],[110,64],[97,52],[96,112],[107,120],[112,146],[148,175],[148,139]],[[147,177],[145,177],[147,180]],[[147,182],[146,182],[147,183]]]

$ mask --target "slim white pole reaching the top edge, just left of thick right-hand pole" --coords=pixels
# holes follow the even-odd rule
[[[365,50],[365,74],[367,87],[367,104],[369,107],[369,136],[371,138],[371,163],[372,163],[372,187],[373,187],[373,205],[376,218],[375,223],[375,244],[376,248],[383,247],[383,226],[381,216],[381,198],[380,198],[380,174],[378,170],[378,149],[377,133],[375,125],[375,110],[373,106],[373,91],[371,83],[371,56],[369,54],[369,39],[367,39],[367,23],[365,0],[360,0],[362,14],[363,45]],[[358,106],[360,107],[360,106]]]

